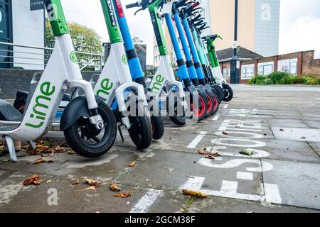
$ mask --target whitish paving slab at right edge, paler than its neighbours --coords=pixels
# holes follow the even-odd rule
[[[320,142],[320,129],[272,127],[272,131],[279,140]]]

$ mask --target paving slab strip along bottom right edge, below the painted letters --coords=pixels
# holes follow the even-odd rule
[[[191,213],[319,213],[319,210],[294,206],[266,204],[240,199],[210,197],[196,199],[189,209]]]

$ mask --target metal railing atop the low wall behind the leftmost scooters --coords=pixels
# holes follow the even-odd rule
[[[10,65],[26,70],[44,70],[53,48],[0,42],[0,65]],[[80,70],[102,70],[103,55],[76,52]]]

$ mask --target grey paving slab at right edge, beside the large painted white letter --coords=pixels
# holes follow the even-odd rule
[[[282,204],[320,209],[320,165],[268,160],[273,170],[263,172],[263,180],[277,184]]]

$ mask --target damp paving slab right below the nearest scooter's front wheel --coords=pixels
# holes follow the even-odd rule
[[[44,160],[55,160],[54,163],[41,163],[38,165],[33,165],[33,161],[41,156],[31,155],[19,157],[17,163],[0,163],[0,170],[65,176],[70,179],[74,177],[94,177],[105,182],[126,169],[130,162],[147,154],[148,153],[137,152],[129,148],[114,147],[110,150],[110,153],[97,159],[87,159],[79,155],[73,156],[66,153],[56,153],[54,157],[43,157]],[[6,159],[9,157],[3,158]]]

